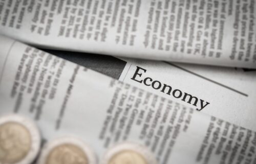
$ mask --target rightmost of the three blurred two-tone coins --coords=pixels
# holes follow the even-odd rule
[[[144,146],[121,143],[110,148],[101,159],[101,164],[156,164],[154,155]]]

